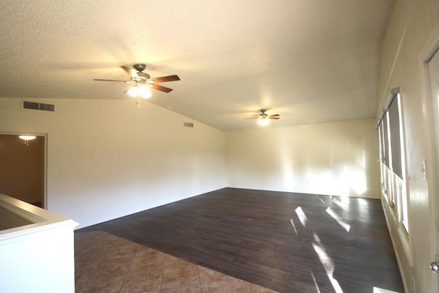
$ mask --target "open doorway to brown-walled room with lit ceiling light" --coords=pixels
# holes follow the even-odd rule
[[[0,193],[43,209],[46,202],[46,135],[23,140],[21,133],[0,133]]]

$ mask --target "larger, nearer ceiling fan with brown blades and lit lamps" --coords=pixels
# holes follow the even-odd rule
[[[93,80],[97,80],[100,82],[125,82],[127,84],[134,84],[131,89],[126,91],[126,93],[132,95],[133,97],[137,97],[137,104],[140,108],[139,98],[143,97],[151,97],[150,89],[156,89],[158,91],[163,91],[165,93],[169,93],[172,89],[169,89],[165,86],[161,86],[157,83],[161,82],[175,82],[180,80],[178,75],[168,75],[163,76],[161,78],[151,78],[149,74],[144,73],[146,65],[145,64],[134,64],[132,67],[121,66],[123,70],[125,70],[130,76],[131,80],[101,80],[97,78],[93,78]]]

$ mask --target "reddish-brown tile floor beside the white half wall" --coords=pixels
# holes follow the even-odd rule
[[[75,292],[274,293],[103,231],[75,233]]]

